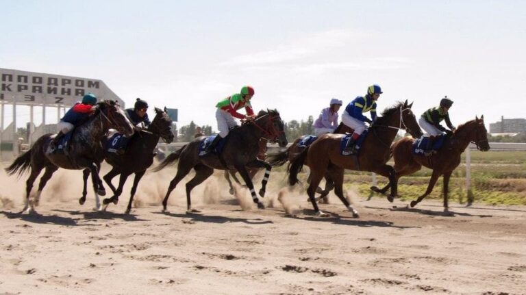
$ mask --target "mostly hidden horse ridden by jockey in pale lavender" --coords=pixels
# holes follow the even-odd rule
[[[353,129],[343,123],[340,123],[338,127],[334,130],[333,133],[335,134],[347,134],[347,133],[353,133]],[[279,153],[271,153],[268,155],[268,164],[271,164],[271,166],[283,166],[286,162],[292,162],[303,150],[305,150],[306,146],[299,145],[299,142],[303,140],[305,136],[300,136],[299,138],[296,138],[294,142],[285,150],[281,151]],[[308,179],[307,182],[310,182],[310,179]],[[331,180],[330,175],[325,175],[325,190],[322,190],[321,188],[316,188],[316,193],[320,194],[316,198],[316,201],[323,200],[325,203],[327,203],[327,195],[331,190],[334,188],[334,181]]]

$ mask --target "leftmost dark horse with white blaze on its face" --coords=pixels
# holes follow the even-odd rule
[[[31,168],[31,174],[26,181],[25,205],[21,213],[26,210],[28,213],[35,211],[34,206],[38,206],[42,190],[58,168],[69,170],[89,169],[95,190],[95,209],[101,209],[99,194],[97,193],[99,183],[101,183],[98,173],[98,168],[100,167],[98,166],[98,158],[103,153],[101,139],[110,128],[118,129],[128,136],[132,136],[134,127],[116,102],[101,101],[97,105],[99,106],[98,110],[85,123],[73,130],[73,135],[68,144],[69,151],[67,155],[51,151],[49,144],[55,138],[55,135],[48,133],[40,136],[29,151],[18,156],[8,168],[5,168],[8,175],[14,175],[16,172],[18,172],[18,175],[22,175],[23,172]],[[33,183],[44,168],[45,173],[40,178],[34,201],[29,202],[29,194],[33,188]],[[80,205],[83,205],[84,201],[86,201],[86,198],[84,200],[81,198],[79,200]]]

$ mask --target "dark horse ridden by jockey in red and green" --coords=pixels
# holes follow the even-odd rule
[[[267,171],[271,170],[269,164],[262,162],[257,157],[259,152],[258,142],[262,137],[271,140],[271,142],[277,142],[281,147],[287,145],[288,142],[284,132],[284,123],[277,110],[267,110],[267,112],[261,111],[252,122],[247,122],[238,128],[231,129],[229,135],[225,138],[226,142],[223,146],[223,151],[219,155],[216,153],[209,153],[202,157],[199,156],[199,145],[206,139],[203,137],[195,138],[195,140],[181,147],[181,149],[175,151],[175,153],[168,155],[158,167],[153,169],[154,171],[160,171],[168,166],[168,164],[179,160],[179,163],[177,164],[177,174],[172,181],[170,181],[166,196],[164,196],[164,200],[162,201],[162,211],[166,211],[166,205],[170,193],[175,189],[177,183],[188,175],[188,172],[190,172],[192,168],[195,170],[196,174],[190,179],[190,181],[188,181],[188,183],[186,183],[187,213],[199,212],[198,210],[192,209],[190,192],[195,186],[205,181],[205,179],[208,179],[208,177],[214,172],[214,169],[236,169],[249,188],[253,202],[258,204],[259,209],[264,209],[263,203],[255,194],[252,180],[247,171],[247,167],[264,167]],[[266,181],[268,181],[268,175],[263,179],[263,187],[266,185]],[[262,192],[264,193],[264,189]],[[264,194],[260,194],[260,196],[263,197]]]

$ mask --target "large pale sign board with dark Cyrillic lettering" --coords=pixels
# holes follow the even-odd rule
[[[0,68],[0,103],[71,107],[88,92],[124,107],[124,101],[101,80]]]

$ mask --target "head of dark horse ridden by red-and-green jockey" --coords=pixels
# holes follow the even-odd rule
[[[277,110],[260,111],[254,120],[254,125],[263,131],[263,137],[271,142],[277,142],[281,147],[288,144],[285,125]]]

